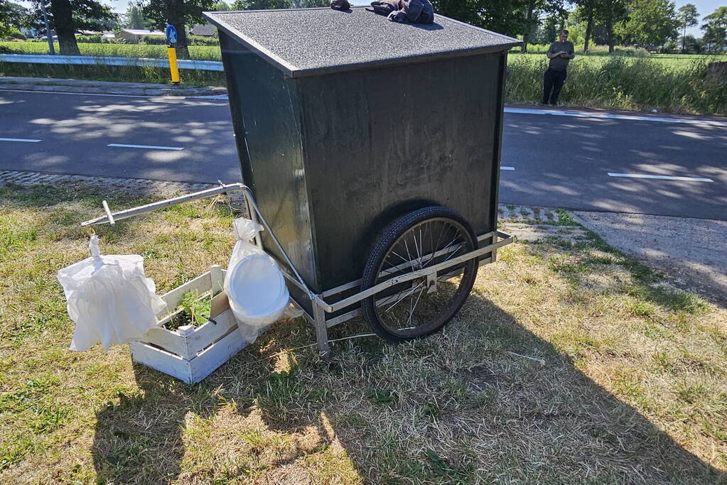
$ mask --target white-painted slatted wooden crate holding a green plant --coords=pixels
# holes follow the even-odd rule
[[[209,272],[161,296],[166,302],[166,310],[161,315],[166,316],[159,320],[159,327],[129,343],[132,360],[193,384],[206,378],[246,346],[249,342],[238,331],[227,296],[221,293],[224,278],[225,271],[220,266],[212,266]],[[210,312],[210,318],[216,324],[185,325],[177,330],[164,328],[175,314],[170,312],[177,308],[185,294],[191,291],[202,295],[209,290],[213,294],[220,292],[212,298]]]

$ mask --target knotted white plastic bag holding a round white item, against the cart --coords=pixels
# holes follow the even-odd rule
[[[252,343],[281,317],[290,296],[276,261],[250,243],[262,231],[262,226],[241,218],[235,219],[234,228],[238,240],[230,256],[223,288],[238,329]]]

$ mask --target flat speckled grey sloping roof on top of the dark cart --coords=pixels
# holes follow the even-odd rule
[[[204,12],[290,77],[499,52],[518,39],[435,15],[432,25],[390,22],[353,7]]]

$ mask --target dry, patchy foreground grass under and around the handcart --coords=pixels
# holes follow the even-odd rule
[[[312,327],[283,321],[187,386],[124,347],[67,350],[55,272],[87,257],[78,223],[99,207],[92,191],[0,189],[3,483],[727,480],[727,311],[566,214],[500,250],[443,333],[339,341],[321,360]],[[103,253],[145,256],[161,292],[226,264],[232,219],[193,203],[98,232]]]

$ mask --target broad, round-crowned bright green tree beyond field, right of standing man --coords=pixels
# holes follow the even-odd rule
[[[635,0],[627,6],[627,18],[616,26],[616,34],[625,45],[647,49],[662,46],[677,38],[678,20],[670,0]]]

